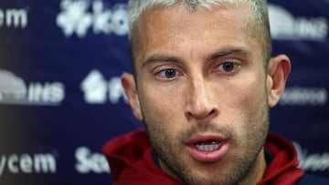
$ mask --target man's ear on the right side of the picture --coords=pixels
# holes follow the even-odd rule
[[[279,102],[291,69],[289,57],[280,55],[271,58],[267,77],[269,106],[271,108]]]

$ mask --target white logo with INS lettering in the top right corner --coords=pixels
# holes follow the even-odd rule
[[[269,4],[268,7],[274,39],[322,41],[328,36],[328,21],[323,16],[294,16],[279,5]]]

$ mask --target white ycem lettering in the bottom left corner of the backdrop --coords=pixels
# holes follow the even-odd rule
[[[0,156],[0,178],[4,171],[10,173],[56,173],[56,158],[49,153],[10,154]]]

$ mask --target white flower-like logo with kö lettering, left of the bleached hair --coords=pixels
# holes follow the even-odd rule
[[[94,34],[125,36],[128,34],[126,6],[117,4],[105,9],[100,0],[91,4],[89,0],[62,0],[56,23],[67,37],[73,34],[84,37],[90,28]]]

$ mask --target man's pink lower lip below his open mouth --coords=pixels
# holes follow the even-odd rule
[[[228,142],[222,142],[219,149],[213,151],[203,151],[196,149],[194,145],[188,145],[187,150],[193,159],[200,162],[216,162],[224,157],[228,152]]]

